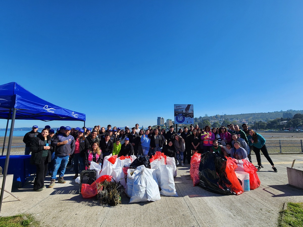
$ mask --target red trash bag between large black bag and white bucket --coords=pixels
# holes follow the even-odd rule
[[[227,187],[231,188],[232,192],[235,192],[236,195],[240,195],[243,193],[242,186],[238,180],[238,177],[235,173],[235,169],[238,168],[231,158],[227,158],[226,161],[226,168],[225,168],[225,175],[227,179],[230,181],[231,185],[226,185]]]

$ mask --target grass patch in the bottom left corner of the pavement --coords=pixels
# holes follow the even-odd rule
[[[24,220],[22,217],[26,216],[28,219]],[[8,217],[0,217],[0,227],[24,227],[24,226],[40,226],[37,221],[33,218],[32,215],[15,215]]]

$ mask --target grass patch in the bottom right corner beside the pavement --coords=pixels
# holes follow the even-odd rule
[[[303,227],[303,203],[287,203],[287,209],[280,212],[279,227]]]

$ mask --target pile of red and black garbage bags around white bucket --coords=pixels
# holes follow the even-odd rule
[[[194,186],[222,195],[239,195],[242,186],[235,171],[249,173],[250,189],[260,186],[258,169],[249,161],[232,159],[216,153],[195,153],[191,158],[190,176]]]

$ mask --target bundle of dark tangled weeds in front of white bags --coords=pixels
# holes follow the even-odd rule
[[[98,195],[97,198],[101,204],[117,206],[121,204],[121,192],[123,186],[120,182],[109,182],[107,180],[97,183]]]

